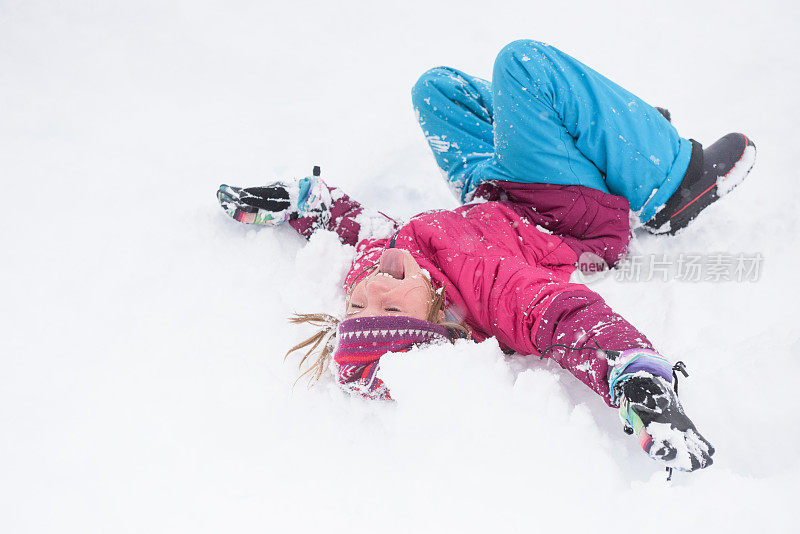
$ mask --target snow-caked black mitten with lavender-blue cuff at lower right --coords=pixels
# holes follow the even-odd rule
[[[714,447],[683,411],[671,371],[654,351],[624,351],[609,374],[612,400],[619,402],[625,431],[637,436],[648,456],[670,468],[694,471],[713,463]]]

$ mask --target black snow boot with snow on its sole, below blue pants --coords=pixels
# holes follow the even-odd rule
[[[677,191],[645,223],[654,234],[675,234],[703,209],[742,183],[753,168],[756,145],[741,133],[730,133],[706,149],[692,142],[689,168]]]

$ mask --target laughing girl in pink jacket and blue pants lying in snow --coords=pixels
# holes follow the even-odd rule
[[[317,172],[217,193],[237,221],[286,221],[306,237],[330,230],[356,247],[344,319],[295,317],[323,327],[293,349],[311,347],[308,357],[322,347],[307,372],[319,377],[333,353],[344,387],[390,399],[378,377],[383,354],[496,337],[509,352],[554,358],[618,406],[625,430],[667,467],[711,465],[714,448],[685,415],[673,366],[569,278],[583,253],[611,266],[624,255],[631,209],[654,233],[685,227],[747,175],[753,143],[729,134],[703,150],[678,136],[668,113],[534,41],[506,46],[492,83],[437,68],[413,99],[450,186],[463,202],[482,202],[400,224]]]

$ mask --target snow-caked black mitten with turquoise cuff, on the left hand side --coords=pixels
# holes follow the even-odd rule
[[[217,200],[225,213],[237,221],[263,226],[275,226],[309,215],[324,215],[331,206],[328,187],[317,176],[247,188],[222,184],[217,191]]]

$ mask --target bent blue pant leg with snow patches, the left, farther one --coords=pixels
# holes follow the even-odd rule
[[[411,91],[414,110],[436,163],[461,202],[490,179],[507,180],[492,164],[491,84],[449,67],[423,74]]]

